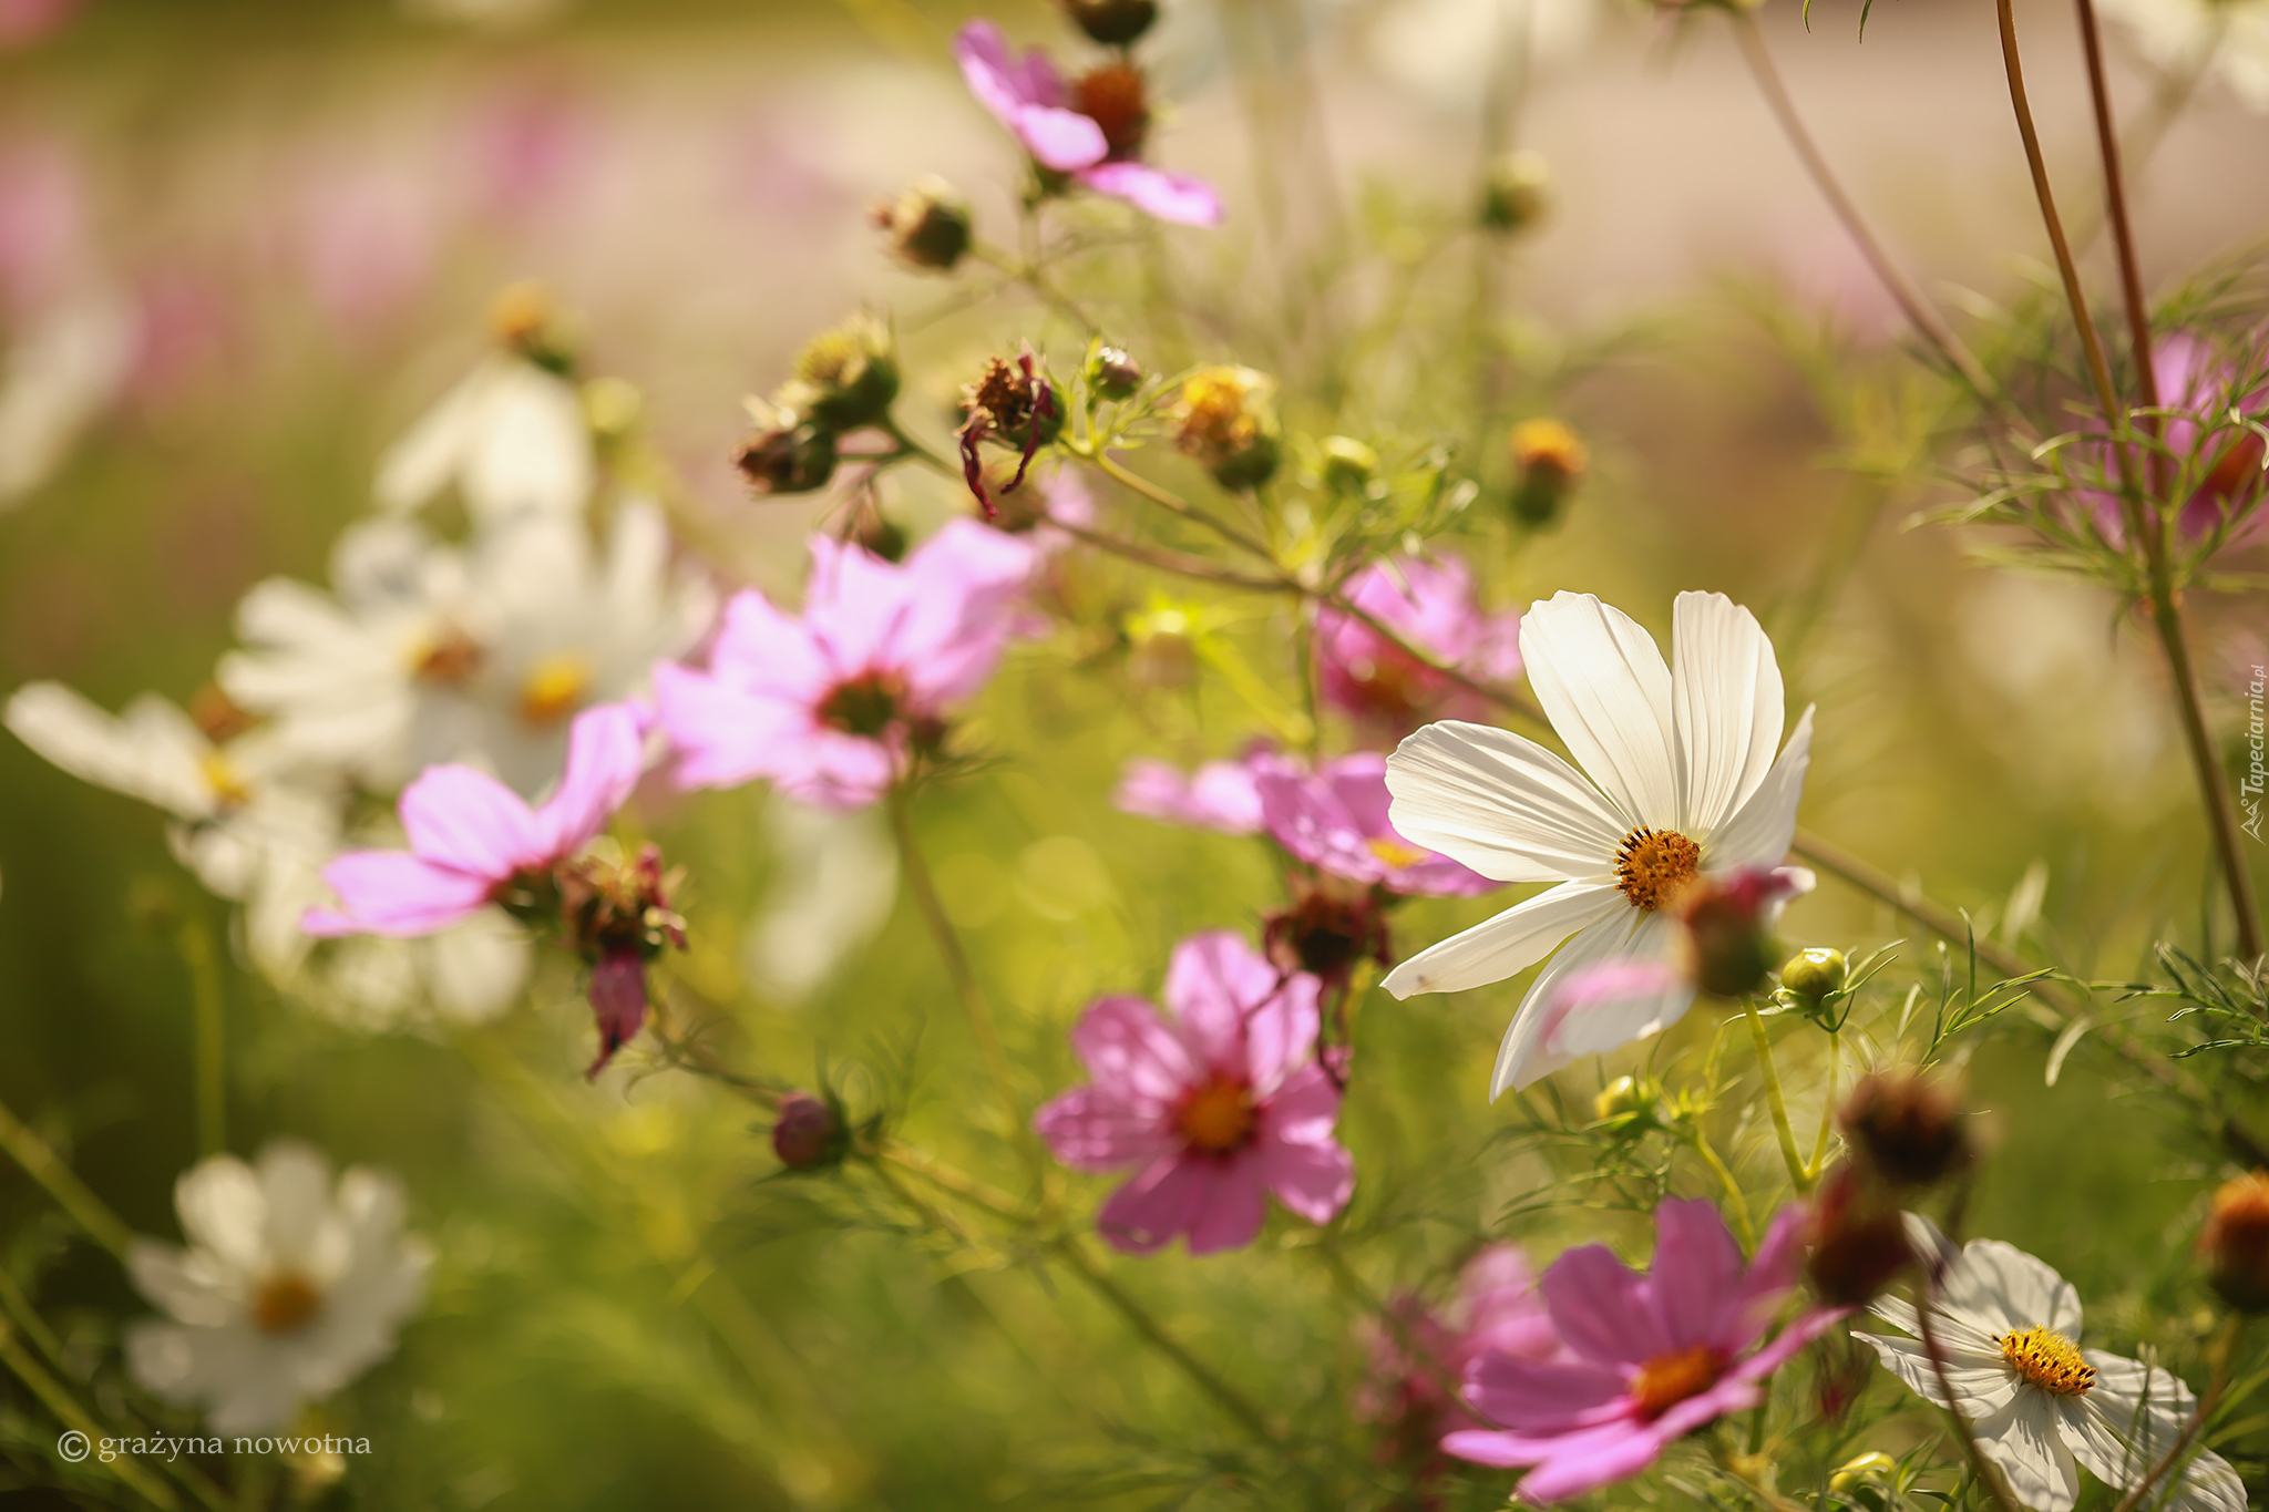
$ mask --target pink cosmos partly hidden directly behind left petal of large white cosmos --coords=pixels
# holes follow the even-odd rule
[[[1386,823],[1386,757],[1375,750],[1334,757],[1314,775],[1255,771],[1262,827],[1277,846],[1318,870],[1389,893],[1475,898],[1502,886],[1450,857],[1411,846]]]

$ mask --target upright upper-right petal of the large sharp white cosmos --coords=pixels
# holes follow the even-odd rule
[[[1781,746],[1781,666],[1756,614],[1679,594],[1670,617],[1670,728],[1679,834],[1711,834],[1756,791]]]

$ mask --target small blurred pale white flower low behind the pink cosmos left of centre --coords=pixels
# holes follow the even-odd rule
[[[749,929],[749,975],[794,1002],[864,945],[899,898],[899,857],[874,809],[817,809],[774,793],[776,873]]]

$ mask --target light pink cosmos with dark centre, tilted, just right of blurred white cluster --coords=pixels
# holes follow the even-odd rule
[[[803,614],[749,589],[724,612],[708,671],[658,666],[653,696],[685,787],[769,778],[858,809],[933,744],[1019,628],[1012,598],[1032,546],[955,519],[903,564],[812,537]]]

